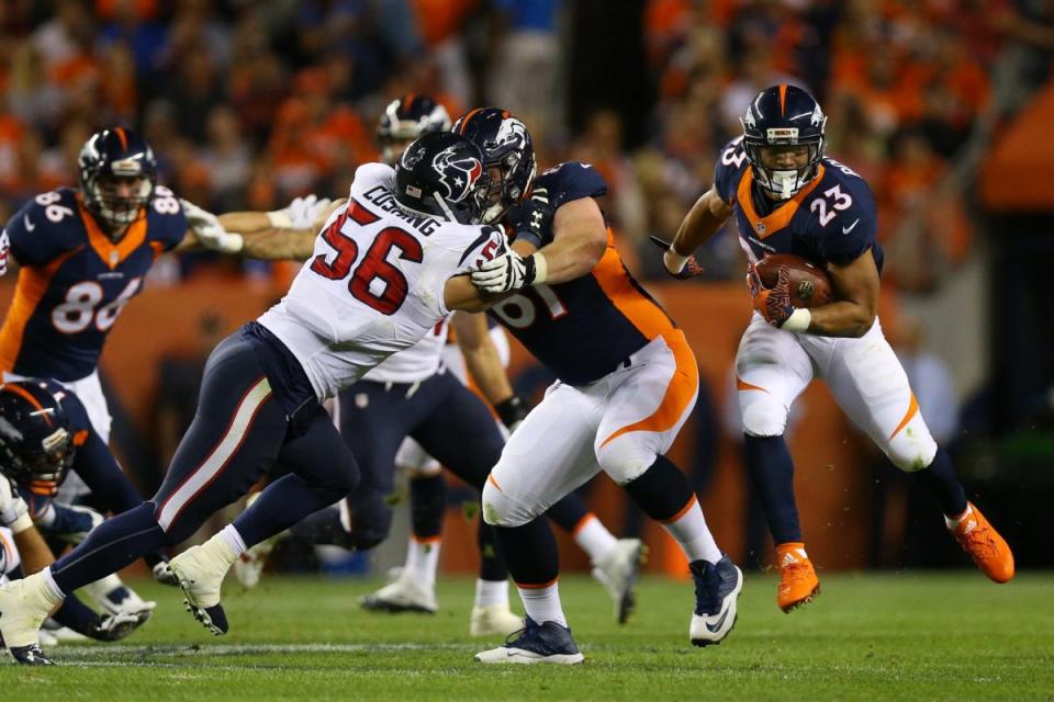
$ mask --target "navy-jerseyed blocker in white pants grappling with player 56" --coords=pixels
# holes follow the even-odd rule
[[[532,182],[530,135],[505,110],[472,110],[453,128],[483,150],[492,182],[484,220],[515,236],[472,282],[511,294],[491,314],[559,378],[509,438],[483,490],[483,517],[497,528],[527,618],[517,638],[476,660],[583,659],[560,605],[552,533],[536,518],[601,471],[684,550],[696,590],[689,638],[719,643],[736,622],[742,573],[717,547],[684,474],[662,455],[698,392],[684,333],[623,265],[595,200],[607,186],[594,169],[561,163]]]

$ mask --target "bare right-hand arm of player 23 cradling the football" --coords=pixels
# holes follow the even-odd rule
[[[878,309],[878,268],[867,249],[845,264],[827,264],[834,301],[809,312],[809,333],[821,337],[854,337],[867,333]]]

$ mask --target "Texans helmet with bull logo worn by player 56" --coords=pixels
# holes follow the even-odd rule
[[[490,183],[479,147],[452,132],[422,135],[395,166],[400,204],[462,224],[479,224]]]

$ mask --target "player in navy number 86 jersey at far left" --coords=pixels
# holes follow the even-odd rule
[[[0,234],[0,275],[9,257],[21,267],[0,328],[0,372],[8,382],[51,378],[69,388],[108,445],[111,418],[97,372],[106,335],[160,253],[203,242],[205,213],[157,184],[154,151],[132,129],[93,134],[78,166],[78,188],[36,195]],[[206,244],[235,250],[240,241],[224,234]],[[65,502],[88,491],[76,472],[60,490]],[[105,507],[124,511],[139,502]],[[147,559],[158,575],[161,558]]]

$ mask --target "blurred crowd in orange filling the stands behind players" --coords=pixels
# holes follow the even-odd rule
[[[828,154],[876,193],[887,283],[926,292],[975,246],[969,183],[943,184],[993,110],[1000,53],[1034,48],[1024,79],[1038,83],[1054,45],[1054,9],[1039,1],[621,2],[638,8],[646,124],[603,102],[569,114],[581,70],[570,49],[605,31],[584,19],[603,0],[8,0],[0,216],[75,184],[78,150],[105,123],[139,128],[161,181],[216,212],[339,196],[377,158],[383,106],[427,92],[455,116],[479,104],[518,113],[542,168],[593,163],[629,265],[659,275],[647,235],[673,234],[750,98],[788,81],[821,100]],[[630,132],[644,138],[630,145]],[[709,279],[741,274],[732,236],[702,259]],[[178,280],[194,263],[173,265]]]

